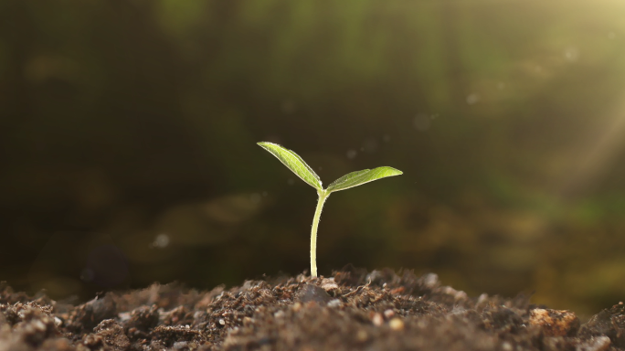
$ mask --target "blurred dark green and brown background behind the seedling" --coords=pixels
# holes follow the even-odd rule
[[[625,299],[625,4],[1,0],[0,280],[56,298],[309,269]]]

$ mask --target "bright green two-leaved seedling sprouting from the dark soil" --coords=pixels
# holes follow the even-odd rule
[[[362,171],[355,171],[348,173],[338,179],[336,179],[330,186],[323,189],[321,179],[312,170],[310,165],[302,160],[298,154],[293,153],[282,147],[279,144],[273,143],[258,143],[263,149],[269,151],[276,156],[282,164],[286,165],[291,171],[302,178],[302,180],[308,183],[310,186],[317,189],[319,200],[317,202],[317,209],[314,211],[314,218],[312,218],[312,231],[311,231],[311,275],[317,276],[317,228],[319,227],[319,219],[321,218],[321,212],[323,203],[334,191],[349,189],[350,187],[360,186],[365,183],[373,182],[374,180],[386,178],[387,176],[399,176],[403,172],[392,167],[377,167],[375,169],[363,169]]]

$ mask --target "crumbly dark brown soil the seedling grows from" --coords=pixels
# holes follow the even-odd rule
[[[568,311],[482,294],[436,274],[338,271],[197,292],[176,284],[88,303],[0,286],[5,350],[619,350],[622,303],[581,324]]]

